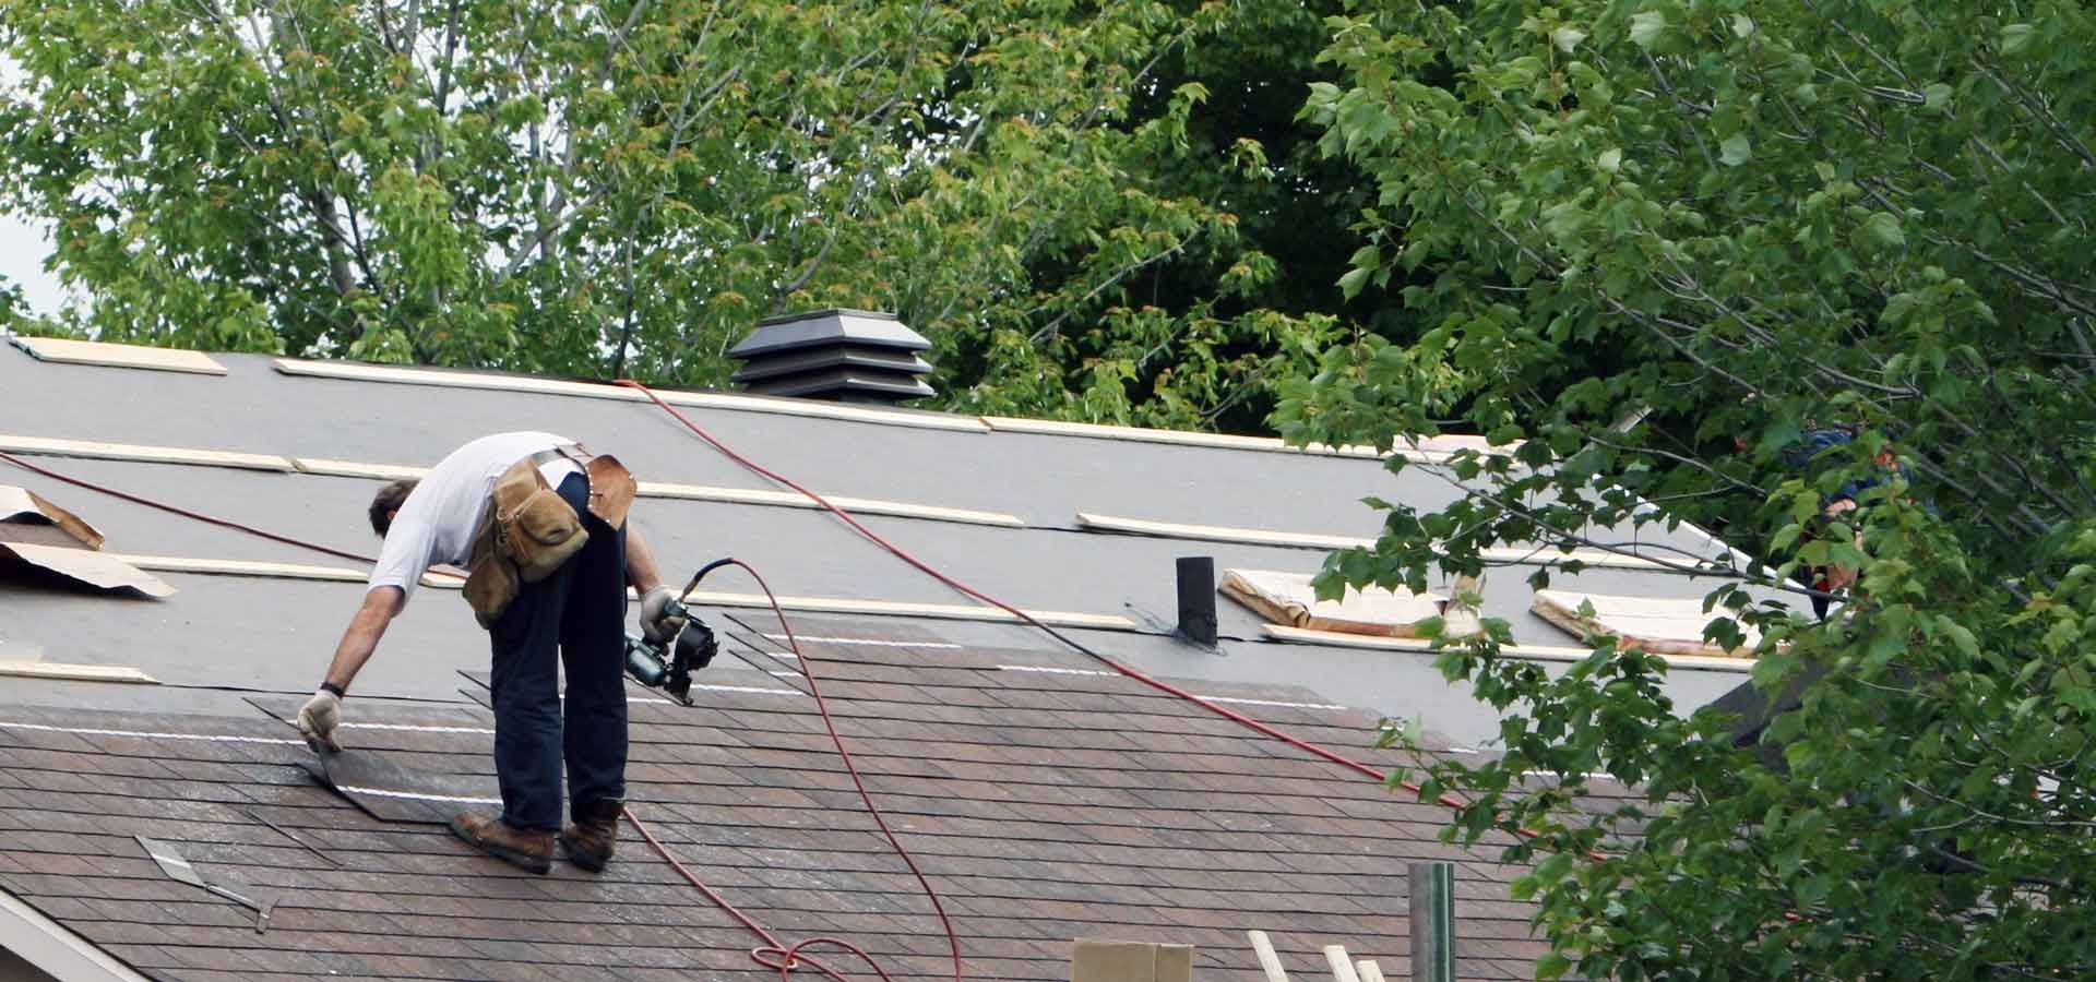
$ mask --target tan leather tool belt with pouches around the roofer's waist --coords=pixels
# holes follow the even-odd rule
[[[509,465],[488,492],[465,563],[465,603],[474,607],[482,628],[501,620],[524,584],[553,576],[560,563],[589,542],[581,515],[539,473],[541,465],[562,456],[589,475],[589,513],[612,530],[627,523],[637,482],[616,456],[568,444]]]

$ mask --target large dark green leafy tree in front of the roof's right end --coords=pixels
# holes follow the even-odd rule
[[[1427,789],[1471,802],[1461,835],[1541,833],[1513,852],[1543,974],[2096,976],[2090,13],[1390,0],[1331,27],[1344,77],[1306,113],[1375,182],[1348,281],[1415,276],[1432,331],[1327,352],[1283,427],[1455,415],[1501,452],[1325,588],[1694,519],[1765,557],[1704,567],[1710,637],[1759,628],[1754,685],[1803,689],[1733,747],[1641,651],[1551,678],[1505,624],[1444,647],[1505,756]],[[1830,425],[1855,440],[1803,461]],[[1826,622],[1811,567],[1861,572]],[[1570,808],[1589,773],[1647,798]]]

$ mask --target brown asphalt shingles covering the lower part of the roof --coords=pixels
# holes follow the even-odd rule
[[[813,622],[817,637],[893,637]],[[761,643],[784,649],[782,641]],[[1188,942],[1203,980],[1260,980],[1243,932],[1272,934],[1304,978],[1346,944],[1404,976],[1404,865],[1457,861],[1465,978],[1528,978],[1541,944],[1518,869],[1438,842],[1413,802],[1207,710],[1058,651],[807,643],[870,791],[939,890],[968,978],[1063,980],[1069,940]],[[752,662],[767,662],[750,655]],[[778,672],[794,662],[776,660]],[[799,676],[700,674],[708,687],[805,689]],[[1375,718],[1297,689],[1201,683],[1247,716],[1356,758]],[[467,687],[472,693],[474,687]],[[949,978],[937,919],[851,789],[813,699],[696,689],[633,704],[633,810],[708,886],[788,942],[828,934],[895,978]],[[296,699],[262,701],[289,714]],[[488,714],[350,701],[344,741],[436,773],[486,775]],[[415,729],[421,727],[421,729]],[[182,733],[239,739],[166,739]],[[316,787],[296,733],[262,718],[0,708],[0,888],[168,980],[778,978],[759,942],[627,831],[602,877],[549,877],[470,852],[436,825],[392,825]],[[340,867],[256,817],[310,842]],[[130,835],[199,869],[285,890],[254,915],[166,879]],[[824,955],[849,976],[849,957]]]

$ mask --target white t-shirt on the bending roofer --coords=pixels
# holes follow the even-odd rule
[[[539,450],[572,442],[553,433],[495,433],[438,461],[400,503],[400,513],[394,515],[386,544],[379,549],[379,565],[371,570],[371,588],[398,586],[402,595],[413,597],[415,584],[432,565],[465,565],[495,479]],[[555,456],[539,465],[539,473],[545,475],[547,484],[560,488],[564,477],[583,473],[583,467],[566,456]]]

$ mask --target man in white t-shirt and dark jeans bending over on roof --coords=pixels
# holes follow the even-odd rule
[[[501,814],[463,812],[451,831],[532,873],[553,844],[578,867],[612,858],[625,804],[627,584],[641,593],[641,630],[675,639],[662,586],[639,530],[627,528],[633,477],[553,433],[497,433],[438,461],[421,482],[394,482],[371,500],[386,538],[365,603],[350,618],[327,680],[298,714],[314,752],[337,752],[342,695],[386,626],[436,563],[470,572],[465,599],[495,649],[495,773]],[[555,649],[566,666],[562,701]],[[562,762],[572,823],[560,825]],[[555,831],[558,829],[558,831]]]

